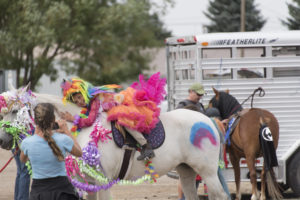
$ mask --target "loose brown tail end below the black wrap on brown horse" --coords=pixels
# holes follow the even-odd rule
[[[276,177],[273,169],[266,171],[266,183],[268,188],[268,193],[272,199],[282,199],[282,195],[280,192],[280,186],[276,181]]]

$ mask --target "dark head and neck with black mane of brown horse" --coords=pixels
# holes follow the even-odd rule
[[[228,119],[231,115],[243,109],[234,96],[223,91],[219,92],[219,100],[214,96],[210,103],[213,107],[219,109],[222,119]]]

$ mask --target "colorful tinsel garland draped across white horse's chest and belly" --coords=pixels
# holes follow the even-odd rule
[[[100,116],[101,117],[101,116]],[[112,138],[109,136],[111,130],[104,128],[100,120],[97,119],[94,130],[90,133],[90,142],[82,149],[81,158],[68,156],[65,159],[67,175],[71,183],[77,188],[80,195],[86,192],[97,192],[107,190],[113,185],[138,185],[144,182],[156,182],[159,177],[154,171],[153,163],[150,160],[145,161],[145,175],[136,180],[109,180],[104,173],[100,162],[100,153],[98,142],[107,142]],[[86,179],[86,175],[95,179],[99,185],[91,184]]]

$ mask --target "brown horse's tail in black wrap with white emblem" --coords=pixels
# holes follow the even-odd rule
[[[264,171],[266,172],[266,184],[268,193],[272,199],[282,199],[280,186],[277,183],[273,167],[278,166],[276,149],[274,148],[273,138],[267,124],[270,122],[269,118],[259,119],[261,128],[259,130],[260,146],[264,157]]]

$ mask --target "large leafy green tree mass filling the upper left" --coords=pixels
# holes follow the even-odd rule
[[[148,67],[140,50],[170,35],[160,12],[150,0],[1,0],[0,66],[18,87],[56,80],[54,63],[94,84],[130,79]]]

